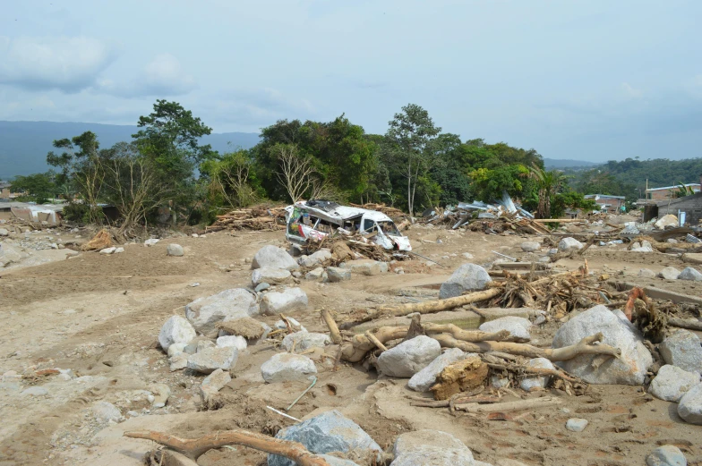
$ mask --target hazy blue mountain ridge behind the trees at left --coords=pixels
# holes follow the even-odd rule
[[[98,135],[101,148],[132,140],[136,126],[99,123],[3,122],[0,121],[0,180],[18,174],[46,172],[47,152],[54,140],[73,138],[85,131]],[[255,132],[213,133],[202,138],[219,153],[235,148],[253,148],[259,141]],[[231,143],[231,144],[230,144]]]

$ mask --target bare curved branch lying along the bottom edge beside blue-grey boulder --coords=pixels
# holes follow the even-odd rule
[[[300,466],[330,466],[329,462],[310,453],[302,444],[246,430],[223,430],[199,438],[180,438],[153,430],[124,432],[124,436],[151,440],[158,445],[164,445],[178,453],[183,453],[194,461],[213,448],[221,448],[226,445],[244,445],[261,452],[285,456]]]

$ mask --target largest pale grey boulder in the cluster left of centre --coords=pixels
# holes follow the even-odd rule
[[[206,298],[198,298],[185,306],[185,317],[201,334],[214,331],[218,322],[251,317],[258,313],[255,295],[244,288],[234,288]]]

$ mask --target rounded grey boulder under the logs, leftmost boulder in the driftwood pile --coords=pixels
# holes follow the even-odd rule
[[[441,355],[439,342],[428,336],[415,336],[378,357],[378,369],[390,377],[409,378]]]

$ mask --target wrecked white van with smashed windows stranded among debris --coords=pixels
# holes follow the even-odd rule
[[[386,250],[412,250],[407,236],[399,233],[389,216],[376,210],[339,206],[329,200],[307,200],[286,208],[286,239],[304,243],[331,233],[360,233],[366,241]]]

